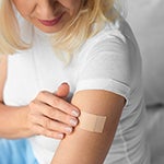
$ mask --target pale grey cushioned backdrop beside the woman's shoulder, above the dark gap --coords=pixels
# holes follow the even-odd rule
[[[128,0],[128,10],[143,59],[147,103],[164,103],[164,0]]]

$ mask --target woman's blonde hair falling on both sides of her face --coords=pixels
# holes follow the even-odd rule
[[[115,19],[116,15],[110,12],[113,8],[114,0],[82,0],[78,15],[51,37],[55,50],[71,56],[87,38],[95,35],[106,21]],[[108,12],[110,14],[107,14]],[[0,54],[14,54],[30,47],[21,39],[10,0],[0,0]]]

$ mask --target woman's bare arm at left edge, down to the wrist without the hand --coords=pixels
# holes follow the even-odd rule
[[[0,57],[0,138],[23,138],[31,136],[25,125],[26,108],[3,104],[3,86],[7,79],[7,56]]]

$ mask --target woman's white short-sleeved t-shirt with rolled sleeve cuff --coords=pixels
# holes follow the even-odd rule
[[[104,163],[149,164],[141,58],[129,25],[122,19],[106,24],[68,66],[55,55],[49,35],[35,28],[33,40],[31,49],[9,56],[4,103],[27,105],[39,91],[55,92],[62,82],[69,83],[70,97],[80,90],[106,90],[122,95],[127,104]],[[49,164],[59,141],[42,136],[30,141],[39,164]]]

